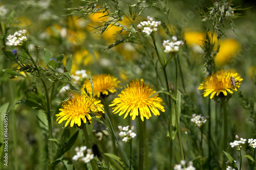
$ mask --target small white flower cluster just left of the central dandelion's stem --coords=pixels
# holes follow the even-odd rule
[[[118,129],[120,131],[119,136],[122,138],[122,141],[126,143],[130,142],[136,136],[136,133],[134,133],[134,126],[118,126]]]

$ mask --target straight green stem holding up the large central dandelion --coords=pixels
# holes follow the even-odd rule
[[[139,114],[140,115],[140,114]],[[137,117],[139,122],[139,168],[144,169],[144,134],[143,134],[143,122],[140,116]],[[131,164],[130,164],[131,167]]]

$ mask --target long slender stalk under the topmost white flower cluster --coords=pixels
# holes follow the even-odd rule
[[[154,35],[152,35],[151,37],[152,37],[152,40],[153,40],[153,43],[154,43],[154,46],[155,46],[155,50],[156,50],[156,53],[157,53],[158,60],[160,61],[161,66],[163,67],[163,63],[161,61],[161,58],[160,58],[158,50],[157,50],[155,37],[154,37]],[[169,83],[168,83],[168,78],[167,78],[167,75],[166,75],[165,67],[163,68],[163,74],[164,74],[166,90],[169,92],[170,89],[169,89]],[[170,142],[169,142],[169,145],[170,145],[169,159],[170,160],[169,161],[170,161],[170,169],[173,169],[173,124],[172,124],[173,123],[173,117],[172,117],[172,104],[170,102],[170,96],[169,95],[167,95],[167,98],[168,98],[168,106],[169,106],[169,135],[170,135]]]

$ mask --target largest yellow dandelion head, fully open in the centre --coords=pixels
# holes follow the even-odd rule
[[[120,116],[125,113],[125,118],[130,113],[133,120],[140,114],[141,120],[144,121],[144,117],[149,119],[152,116],[151,112],[154,115],[160,115],[158,109],[165,112],[163,100],[158,94],[150,98],[156,92],[150,85],[146,86],[144,82],[131,82],[130,87],[128,84],[126,86],[118,95],[119,98],[114,99],[113,104],[110,105],[116,105],[113,108],[114,114],[120,112]]]

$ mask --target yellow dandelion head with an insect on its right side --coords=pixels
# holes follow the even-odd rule
[[[231,76],[234,78],[236,83],[235,86],[234,84],[231,84]],[[210,99],[212,99],[214,98],[215,94],[218,96],[220,93],[223,93],[226,96],[227,91],[230,93],[233,93],[231,90],[237,91],[237,88],[240,87],[239,84],[241,84],[242,80],[243,79],[240,78],[237,73],[221,70],[205,79],[205,82],[201,83],[201,86],[199,86],[198,89],[205,89],[205,92],[203,93],[204,97],[211,93]]]

